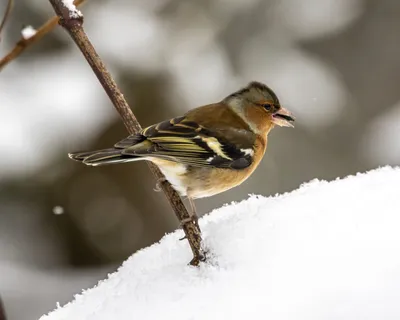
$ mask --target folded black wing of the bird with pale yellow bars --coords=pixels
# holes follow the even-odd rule
[[[243,169],[252,162],[255,136],[229,126],[206,128],[190,117],[164,121],[115,145],[122,154],[151,156],[198,167]]]

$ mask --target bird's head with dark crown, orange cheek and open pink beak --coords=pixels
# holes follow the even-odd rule
[[[250,82],[227,98],[225,102],[251,122],[270,122],[272,127],[294,127],[294,117],[281,107],[279,99],[271,88],[260,82]]]

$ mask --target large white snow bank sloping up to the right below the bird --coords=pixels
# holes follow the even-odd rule
[[[181,230],[42,320],[399,319],[400,168],[311,181],[200,220],[209,263]]]

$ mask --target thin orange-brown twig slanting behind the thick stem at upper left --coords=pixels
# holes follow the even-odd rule
[[[83,4],[85,0],[75,0],[74,3],[76,6]],[[58,16],[52,17],[47,20],[39,29],[36,30],[36,33],[27,39],[21,37],[19,41],[15,44],[15,47],[0,60],[0,71],[11,61],[18,58],[18,56],[25,51],[26,48],[31,46],[33,43],[42,39],[47,33],[52,31],[58,23]]]

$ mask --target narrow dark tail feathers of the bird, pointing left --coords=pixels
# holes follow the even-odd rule
[[[123,149],[109,148],[96,151],[69,153],[68,156],[75,161],[83,162],[88,166],[102,166],[106,164],[124,163],[144,160],[142,157],[122,154]]]

